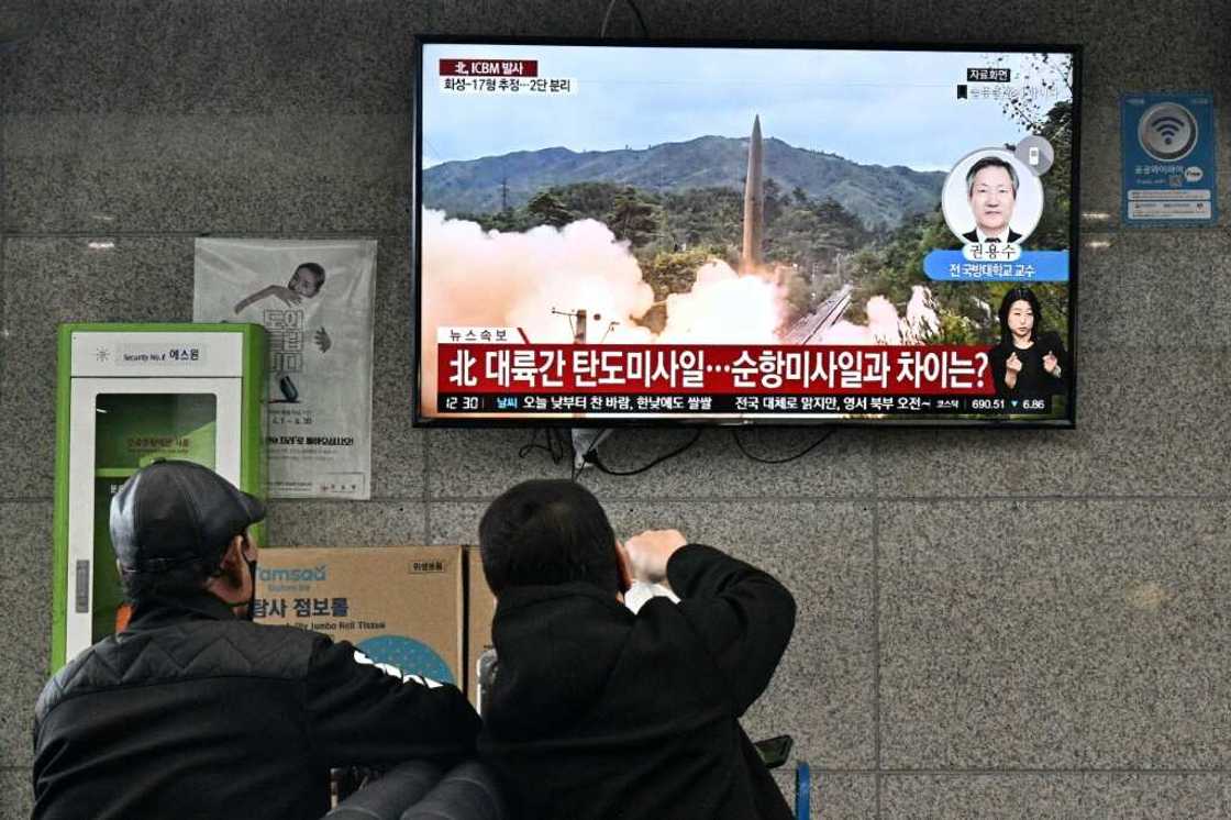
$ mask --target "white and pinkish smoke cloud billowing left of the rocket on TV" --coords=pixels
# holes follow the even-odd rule
[[[774,344],[785,315],[784,289],[769,276],[740,276],[707,262],[692,291],[666,299],[655,336],[638,321],[654,305],[628,244],[602,223],[526,233],[485,231],[476,223],[423,211],[422,406],[436,406],[437,328],[521,328],[532,342],[572,341],[569,316],[588,315],[587,341],[608,344]],[[612,324],[614,323],[614,324]]]

